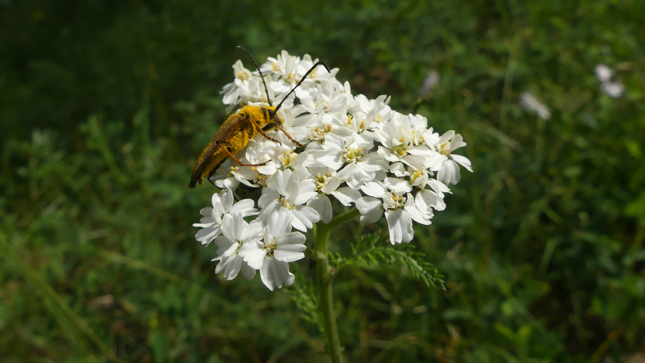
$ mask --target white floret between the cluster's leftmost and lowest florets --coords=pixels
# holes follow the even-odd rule
[[[244,245],[254,245],[261,240],[264,223],[257,220],[247,223],[242,213],[224,214],[222,222],[224,236],[215,238],[218,248],[217,257],[213,261],[219,261],[215,273],[224,273],[226,280],[233,280],[242,271],[244,278],[251,280],[255,269],[243,261],[239,251]]]

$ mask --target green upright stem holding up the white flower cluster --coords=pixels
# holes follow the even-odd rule
[[[327,338],[327,353],[332,358],[333,363],[342,363],[341,339],[338,335],[338,326],[336,324],[336,313],[333,307],[333,290],[332,290],[332,267],[329,264],[328,247],[329,236],[332,229],[341,225],[359,214],[357,209],[341,214],[334,218],[330,223],[317,223],[313,229],[315,238],[316,258],[316,275],[318,280],[319,308],[323,312],[324,334]]]

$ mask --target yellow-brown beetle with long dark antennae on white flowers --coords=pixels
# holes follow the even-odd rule
[[[280,144],[280,141],[271,138],[265,133],[268,130],[279,129],[284,132],[287,138],[295,143],[295,145],[297,145],[298,147],[303,147],[301,143],[295,141],[292,136],[283,129],[283,120],[279,118],[277,112],[282,106],[284,100],[287,99],[290,94],[292,94],[295,88],[298,88],[298,86],[303,83],[304,79],[307,78],[307,76],[316,67],[318,67],[318,65],[323,65],[326,68],[327,72],[330,72],[329,67],[327,67],[327,65],[322,61],[315,63],[315,65],[313,65],[313,67],[304,74],[303,78],[298,82],[298,84],[295,85],[295,87],[293,87],[292,90],[290,90],[290,92],[286,94],[286,96],[284,96],[283,100],[277,105],[277,107],[275,107],[273,106],[273,103],[269,98],[269,91],[266,88],[264,76],[262,74],[262,71],[260,70],[260,67],[255,62],[255,59],[253,59],[248,50],[244,49],[243,47],[235,48],[235,52],[237,52],[238,49],[241,49],[246,53],[246,55],[253,62],[253,65],[255,65],[257,72],[259,72],[260,77],[262,78],[264,92],[266,92],[266,99],[268,100],[269,105],[246,105],[242,107],[242,109],[240,109],[237,113],[232,114],[228,117],[228,119],[226,119],[226,121],[224,121],[223,125],[219,128],[219,130],[217,130],[215,136],[213,136],[212,140],[210,140],[210,143],[208,143],[208,146],[206,146],[206,149],[202,151],[201,155],[197,159],[197,163],[195,163],[195,167],[193,168],[193,172],[190,176],[190,183],[188,184],[188,187],[190,189],[193,189],[195,185],[197,185],[197,183],[203,183],[204,178],[206,178],[206,180],[209,180],[208,178],[210,178],[210,176],[215,173],[219,165],[221,165],[228,158],[232,158],[240,166],[253,167],[265,165],[266,163],[268,163],[269,161],[261,164],[245,164],[235,157],[235,154],[244,149],[244,147],[248,145],[248,141],[258,133],[264,136],[264,138],[266,138],[267,140],[271,140],[275,143]]]

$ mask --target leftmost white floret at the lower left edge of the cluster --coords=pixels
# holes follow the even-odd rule
[[[222,218],[226,214],[240,213],[243,217],[257,214],[257,209],[253,207],[255,202],[252,199],[244,199],[233,204],[233,191],[230,189],[213,194],[211,201],[213,207],[206,207],[199,211],[203,217],[199,223],[193,224],[193,227],[202,228],[195,234],[195,240],[206,246],[222,233]]]

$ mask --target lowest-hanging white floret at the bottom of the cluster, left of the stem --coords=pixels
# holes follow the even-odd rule
[[[292,221],[291,214],[274,212],[264,227],[264,242],[255,240],[239,250],[244,262],[260,270],[262,282],[271,291],[283,284],[293,284],[295,276],[289,272],[289,262],[304,258],[305,237],[300,232],[291,232]]]

